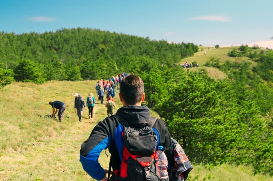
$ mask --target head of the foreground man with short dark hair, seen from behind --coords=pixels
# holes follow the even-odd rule
[[[137,75],[127,75],[120,82],[122,99],[130,105],[135,105],[142,100],[144,93],[143,80]]]

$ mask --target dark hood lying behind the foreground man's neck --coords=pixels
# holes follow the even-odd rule
[[[124,106],[116,111],[119,118],[127,121],[147,121],[150,118],[150,109],[147,106]]]

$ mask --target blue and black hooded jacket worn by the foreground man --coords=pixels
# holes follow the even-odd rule
[[[92,130],[89,138],[83,142],[80,150],[80,162],[83,169],[94,179],[102,180],[105,172],[98,162],[100,153],[104,149],[109,149],[113,158],[113,170],[119,170],[122,161],[124,131],[120,122],[147,121],[150,118],[150,110],[147,106],[125,106],[117,110],[116,114],[100,121]],[[173,144],[166,124],[161,119],[157,119],[153,125],[153,130],[157,133],[158,143],[166,149],[168,164],[174,166]]]

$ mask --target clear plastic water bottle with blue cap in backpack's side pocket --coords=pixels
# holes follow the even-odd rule
[[[157,151],[157,165],[160,173],[160,177],[163,179],[167,179],[168,176],[168,159],[163,151],[163,146],[158,146]]]

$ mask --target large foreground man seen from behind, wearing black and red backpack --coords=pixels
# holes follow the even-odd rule
[[[123,107],[100,121],[83,142],[80,150],[83,169],[96,180],[109,180],[106,173],[112,168],[112,180],[158,181],[155,156],[158,146],[164,148],[168,167],[174,166],[173,143],[166,124],[150,117],[150,109],[141,106],[145,93],[140,77],[126,76],[120,83],[119,97]],[[98,162],[100,153],[107,148],[111,153],[109,171]]]

